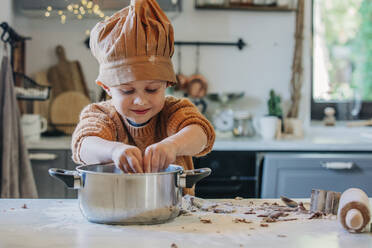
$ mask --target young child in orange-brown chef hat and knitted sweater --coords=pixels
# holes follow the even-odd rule
[[[189,100],[165,97],[166,87],[176,83],[174,38],[156,1],[132,0],[98,23],[90,40],[100,64],[97,84],[112,99],[82,111],[73,160],[114,162],[125,173],[158,172],[171,163],[193,169],[191,156],[209,153],[215,133]]]

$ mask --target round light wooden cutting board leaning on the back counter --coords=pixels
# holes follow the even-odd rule
[[[59,94],[53,100],[50,109],[52,125],[65,134],[72,134],[79,122],[81,110],[89,103],[89,98],[79,91]]]

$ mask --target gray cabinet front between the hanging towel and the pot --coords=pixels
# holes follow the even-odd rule
[[[50,168],[74,170],[70,151],[32,149],[29,155],[39,198],[77,198],[76,190],[67,189],[48,173]]]

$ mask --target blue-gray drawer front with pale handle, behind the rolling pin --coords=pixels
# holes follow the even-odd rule
[[[351,162],[353,167],[332,168],[337,162]],[[326,168],[327,166],[330,168]],[[342,192],[350,187],[361,188],[372,196],[372,155],[358,153],[265,155],[261,193],[263,198],[277,198],[281,195],[308,198],[313,188]]]

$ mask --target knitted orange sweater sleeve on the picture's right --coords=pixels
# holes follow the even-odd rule
[[[189,125],[200,126],[207,136],[207,145],[196,157],[208,154],[214,144],[215,133],[212,124],[202,115],[198,108],[187,98],[177,99],[167,97],[166,109],[168,114],[167,135],[176,134]]]

